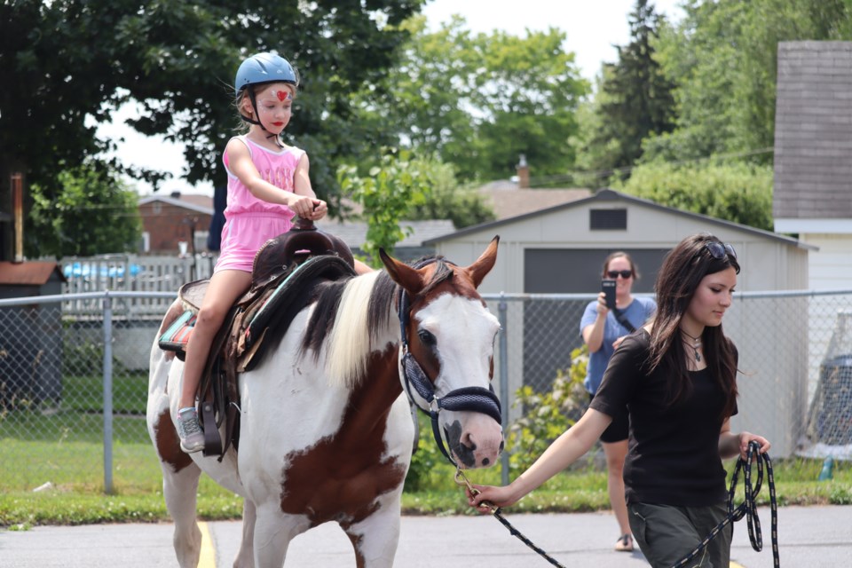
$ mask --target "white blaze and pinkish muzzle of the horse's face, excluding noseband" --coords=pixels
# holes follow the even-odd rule
[[[435,336],[440,370],[435,380],[435,395],[463,387],[489,388],[494,339],[500,322],[485,309],[482,300],[444,294],[416,315],[420,327]],[[453,432],[467,454],[456,460],[462,467],[488,467],[502,451],[501,424],[487,414],[471,411],[442,411],[441,430]],[[459,456],[456,456],[459,457]]]

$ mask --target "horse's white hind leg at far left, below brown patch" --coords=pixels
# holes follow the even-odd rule
[[[201,556],[201,530],[195,517],[198,480],[201,469],[194,463],[177,472],[166,471],[163,467],[162,493],[166,500],[166,509],[175,522],[172,537],[180,568],[195,568]]]

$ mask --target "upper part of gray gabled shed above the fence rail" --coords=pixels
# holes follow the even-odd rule
[[[643,278],[636,292],[651,292],[663,256],[687,235],[713,233],[738,251],[740,290],[808,287],[813,247],[777,233],[673,209],[602,189],[518,217],[466,227],[424,241],[457,264],[469,264],[500,235],[500,254],[481,292],[585,293],[599,288],[604,257],[626,250]]]

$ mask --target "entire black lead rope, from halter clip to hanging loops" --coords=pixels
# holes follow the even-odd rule
[[[755,503],[755,498],[759,493],[761,493],[761,485],[763,484],[763,462],[766,462],[766,474],[767,479],[769,480],[769,512],[771,517],[772,524],[772,560],[775,568],[780,568],[781,562],[778,557],[778,504],[777,498],[775,494],[775,476],[772,473],[772,461],[769,459],[769,454],[760,454],[761,446],[755,442],[751,441],[748,444],[748,450],[746,452],[746,460],[743,461],[742,457],[740,457],[737,461],[737,467],[734,469],[733,475],[730,477],[730,489],[728,491],[728,516],[719,524],[714,527],[710,534],[706,536],[704,540],[702,540],[698,547],[696,547],[690,554],[683,556],[681,560],[679,560],[672,568],[682,568],[687,563],[690,562],[693,558],[698,556],[700,552],[707,547],[711,540],[714,540],[719,533],[722,533],[722,529],[725,528],[725,525],[729,525],[741,520],[743,517],[746,517],[746,526],[748,527],[748,540],[752,544],[752,548],[757,552],[760,552],[763,549],[763,535],[761,533],[761,519],[757,516],[757,505]],[[752,488],[752,457],[753,454],[757,452],[757,484]],[[737,509],[734,509],[734,492],[737,489],[737,478],[739,476],[739,470],[743,469],[744,475],[743,480],[745,483],[745,500],[739,505]],[[468,478],[464,475],[464,472],[461,469],[455,470],[455,483],[458,485],[463,485],[467,487],[468,491],[472,495],[479,494],[479,490],[474,488],[473,485],[470,485]],[[493,506],[492,503],[484,501],[484,504],[488,509],[491,510],[491,514],[497,518],[498,521],[501,522],[503,526],[509,529],[509,533],[512,536],[516,536],[521,542],[523,542],[529,548],[535,550],[540,556],[542,556],[545,560],[547,560],[550,564],[554,566],[559,566],[560,568],[565,568],[562,564],[556,562],[554,558],[548,556],[541,548],[537,547],[533,544],[533,541],[526,538],[520,531],[518,531],[514,526],[506,520],[505,517],[501,514],[501,509],[499,507]],[[731,527],[731,531],[733,531],[733,527]]]

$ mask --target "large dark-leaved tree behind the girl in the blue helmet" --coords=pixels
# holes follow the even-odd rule
[[[288,135],[311,154],[317,192],[334,197],[335,161],[367,154],[372,138],[356,120],[351,93],[381,81],[407,37],[398,24],[421,4],[4,0],[0,196],[9,193],[9,174],[21,171],[58,197],[62,171],[114,146],[95,129],[129,100],[142,108],[132,127],[186,145],[187,181],[224,179],[218,157],[237,122],[235,69],[252,52],[274,50],[304,80]],[[162,181],[155,171],[130,174]]]

